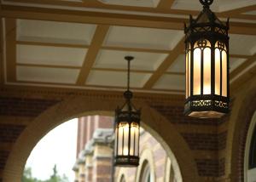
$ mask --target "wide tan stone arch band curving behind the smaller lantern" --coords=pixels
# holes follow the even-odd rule
[[[114,109],[122,102],[123,100],[115,98],[102,100],[73,96],[53,105],[35,118],[16,140],[3,171],[3,181],[20,181],[26,159],[33,147],[52,128],[73,117],[96,114],[113,116]],[[143,128],[154,135],[154,138],[163,145],[169,156],[177,159],[183,181],[198,182],[199,176],[192,152],[172,123],[143,102],[135,102],[135,105],[142,108]]]

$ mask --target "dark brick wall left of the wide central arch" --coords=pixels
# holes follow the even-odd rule
[[[34,117],[59,100],[0,96],[0,181],[12,145]]]

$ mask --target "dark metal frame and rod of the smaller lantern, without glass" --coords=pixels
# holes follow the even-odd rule
[[[132,92],[130,90],[130,62],[134,58],[132,56],[125,56],[125,60],[128,62],[128,71],[127,71],[127,90],[124,93],[125,104],[122,107],[117,107],[115,110],[115,147],[114,147],[114,166],[121,167],[137,167],[139,165],[139,137],[140,137],[140,117],[141,111],[137,110],[134,105],[131,103]],[[122,139],[122,147],[124,153],[124,133],[123,136],[119,136],[119,126],[121,123],[129,124],[129,134],[128,134],[128,153],[127,155],[119,155],[119,139]],[[136,125],[138,128],[137,135],[131,137],[131,127]],[[131,141],[131,139],[134,139]],[[137,139],[137,141],[136,141]],[[133,144],[133,146],[131,146]],[[137,145],[137,146],[136,146]],[[131,147],[133,147],[133,154],[131,154]],[[137,149],[137,150],[135,150]],[[137,151],[137,153],[136,153]]]

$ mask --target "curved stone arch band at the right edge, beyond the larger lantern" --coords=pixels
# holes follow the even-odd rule
[[[226,152],[226,173],[231,181],[244,181],[244,156],[247,132],[256,111],[256,85],[246,85],[236,94],[231,108]]]

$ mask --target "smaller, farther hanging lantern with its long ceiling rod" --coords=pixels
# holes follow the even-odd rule
[[[125,56],[128,62],[127,90],[124,93],[125,105],[115,110],[115,147],[114,165],[122,167],[137,167],[139,165],[139,132],[141,112],[131,104],[130,91],[130,61],[131,56]]]

